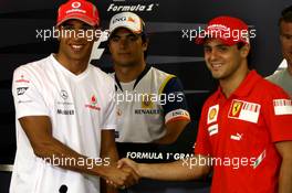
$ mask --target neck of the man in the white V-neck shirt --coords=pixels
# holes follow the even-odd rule
[[[59,53],[55,54],[54,57],[61,65],[63,65],[67,71],[70,71],[75,75],[83,73],[87,68],[90,61],[90,60],[69,60]]]

